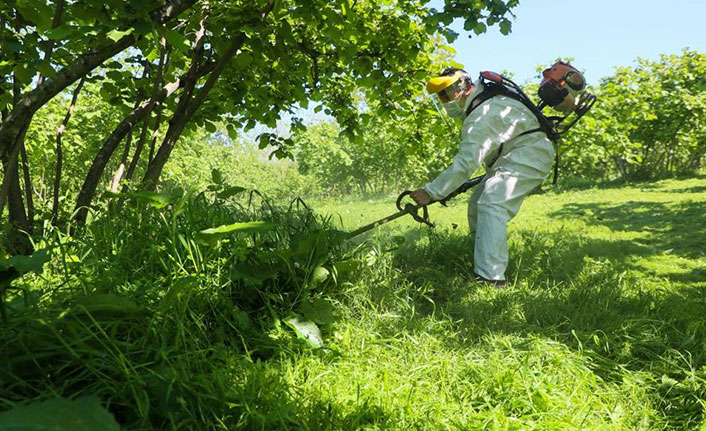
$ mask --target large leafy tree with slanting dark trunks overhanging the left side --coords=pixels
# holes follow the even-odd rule
[[[8,195],[12,195],[11,202],[22,203],[13,172],[17,154],[24,148],[23,127],[40,107],[92,71],[103,79],[104,97],[116,106],[134,108],[110,136],[103,137],[102,153],[94,158],[79,194],[79,221],[85,219],[84,210],[91,205],[118,144],[138,124],[143,125],[140,136],[147,135],[150,126],[145,124],[150,122],[156,136],[156,118],[168,120],[143,175],[142,185],[149,188],[157,184],[182,133],[196,125],[212,129],[219,118],[228,118],[229,131],[236,134],[258,123],[274,125],[282,112],[315,101],[337,119],[346,134],[359,136],[356,130],[365,114],[358,111],[354,94],[378,100],[376,115],[399,112],[400,104],[414,96],[419,80],[430,72],[427,48],[433,35],[443,34],[447,40],[457,37],[448,29],[455,18],[463,19],[466,28],[475,32],[484,30],[479,25],[482,22],[500,22],[507,32],[510,21],[506,15],[517,0],[484,0],[475,7],[447,0],[441,11],[426,3],[171,0],[159,6],[121,0],[65,5],[59,0],[6,2],[1,6],[3,16],[14,13],[21,19],[17,25],[3,21],[0,30],[14,47],[14,53],[0,59],[0,73],[5,77],[5,84],[0,85],[4,85],[0,153],[6,161],[6,193],[0,195],[0,208]],[[45,18],[57,15],[60,25]],[[55,55],[41,57],[42,47],[51,47]],[[168,63],[165,51],[171,52]],[[134,67],[115,64],[116,55]],[[16,91],[14,100],[7,96],[8,82],[17,78],[27,86],[37,70],[49,79],[33,90]],[[177,83],[178,90],[170,93],[167,89],[164,94],[165,82]],[[164,94],[161,99],[160,94]],[[295,119],[293,128],[301,127]],[[140,141],[144,144],[142,137]],[[291,145],[282,139],[269,142]],[[123,154],[129,152],[126,144]],[[139,164],[140,154],[138,144],[132,158],[136,163],[131,166]]]

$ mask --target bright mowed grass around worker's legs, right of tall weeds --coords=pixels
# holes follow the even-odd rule
[[[364,236],[330,350],[283,364],[305,428],[706,429],[705,177],[530,196],[505,290],[470,276],[465,199],[430,212]]]

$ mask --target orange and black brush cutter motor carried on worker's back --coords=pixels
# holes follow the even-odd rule
[[[574,66],[558,61],[542,71],[537,94],[542,102],[561,112],[571,112],[586,89],[586,79]]]

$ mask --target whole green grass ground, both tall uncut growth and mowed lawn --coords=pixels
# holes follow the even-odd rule
[[[299,263],[255,290],[233,272],[243,254],[296,235],[208,248],[188,232],[331,220],[197,203],[161,223],[96,223],[22,279],[39,299],[3,329],[0,408],[95,394],[125,429],[706,429],[705,177],[530,196],[510,223],[505,290],[471,277],[463,198],[430,208],[433,230],[403,218],[356,249],[288,255]],[[309,204],[345,230],[395,211]],[[335,283],[312,281],[351,258]],[[66,311],[96,291],[141,311]],[[321,349],[285,324],[309,300],[334,309]]]

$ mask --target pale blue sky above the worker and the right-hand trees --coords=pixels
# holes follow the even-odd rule
[[[706,52],[706,0],[521,0],[513,13],[507,36],[496,25],[469,39],[454,22],[455,61],[474,76],[508,71],[523,84],[538,79],[537,65],[573,57],[595,85],[638,57],[658,60],[685,47]]]

